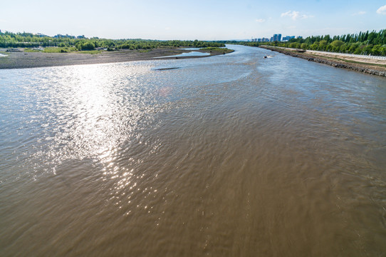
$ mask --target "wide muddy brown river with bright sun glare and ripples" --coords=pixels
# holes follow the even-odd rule
[[[385,256],[386,79],[231,48],[0,70],[0,255]]]

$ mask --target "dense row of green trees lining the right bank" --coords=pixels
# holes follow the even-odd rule
[[[232,42],[227,43],[234,44]],[[365,31],[359,34],[345,34],[342,36],[308,36],[306,39],[291,39],[287,42],[239,42],[238,44],[386,56],[386,29],[380,31]]]

